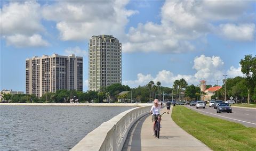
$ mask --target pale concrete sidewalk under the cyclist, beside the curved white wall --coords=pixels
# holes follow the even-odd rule
[[[159,139],[152,135],[153,124],[149,114],[134,123],[122,150],[211,150],[174,123],[171,114],[167,114],[166,107],[161,111],[163,112],[166,113],[162,116]]]

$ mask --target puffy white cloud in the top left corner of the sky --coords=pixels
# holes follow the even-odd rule
[[[1,9],[1,29],[3,35],[31,35],[43,31],[40,23],[40,5],[36,2],[10,2]]]

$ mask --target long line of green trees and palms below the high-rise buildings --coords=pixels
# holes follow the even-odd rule
[[[244,77],[227,78],[226,81],[226,96],[233,96],[240,102],[251,102],[256,100],[256,56],[246,55],[241,61],[241,71]],[[216,85],[214,85],[216,86]],[[206,89],[212,85],[206,85]],[[118,95],[122,91],[127,91],[122,95]],[[185,79],[175,80],[172,88],[161,86],[161,82],[149,81],[145,86],[130,88],[129,86],[115,83],[106,89],[101,88],[100,91],[82,91],[76,90],[57,90],[55,93],[45,93],[41,98],[35,95],[26,94],[5,94],[5,100],[13,103],[69,103],[70,99],[78,99],[81,103],[102,103],[102,102],[152,102],[155,98],[176,99],[176,100],[199,100],[201,95],[199,85],[188,85]],[[215,99],[217,93],[211,98]],[[225,98],[225,85],[219,89],[219,99]]]

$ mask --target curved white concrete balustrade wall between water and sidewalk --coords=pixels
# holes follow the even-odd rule
[[[134,122],[149,113],[151,105],[132,108],[102,123],[71,150],[122,150]]]

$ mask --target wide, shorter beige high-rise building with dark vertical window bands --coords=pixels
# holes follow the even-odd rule
[[[41,97],[59,89],[83,90],[83,57],[53,54],[26,59],[26,94]]]

